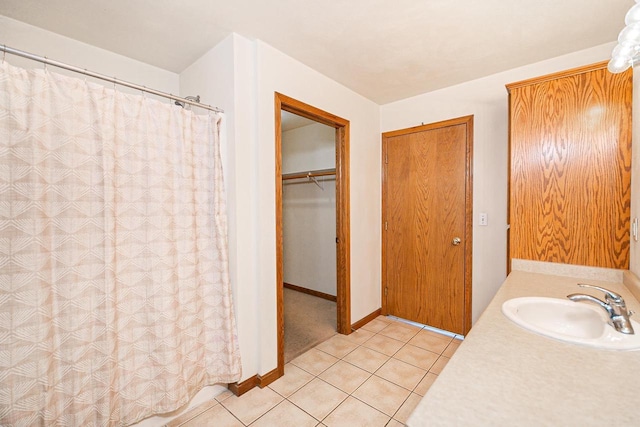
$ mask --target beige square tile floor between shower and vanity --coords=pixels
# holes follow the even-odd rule
[[[378,316],[292,360],[268,387],[226,391],[168,425],[402,426],[460,342]]]

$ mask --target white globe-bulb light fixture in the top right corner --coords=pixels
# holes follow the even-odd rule
[[[640,60],[640,0],[629,9],[624,18],[626,27],[618,35],[618,45],[611,52],[607,68],[612,73],[622,73]]]

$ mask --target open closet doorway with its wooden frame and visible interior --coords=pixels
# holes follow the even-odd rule
[[[351,333],[349,121],[275,94],[278,375]]]

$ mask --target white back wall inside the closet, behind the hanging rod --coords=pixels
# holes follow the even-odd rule
[[[282,132],[282,173],[335,168],[335,129],[314,123]],[[282,187],[284,282],[336,295],[336,180]]]

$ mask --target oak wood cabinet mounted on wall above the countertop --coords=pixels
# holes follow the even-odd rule
[[[603,62],[507,85],[509,261],[629,267],[632,84]]]

